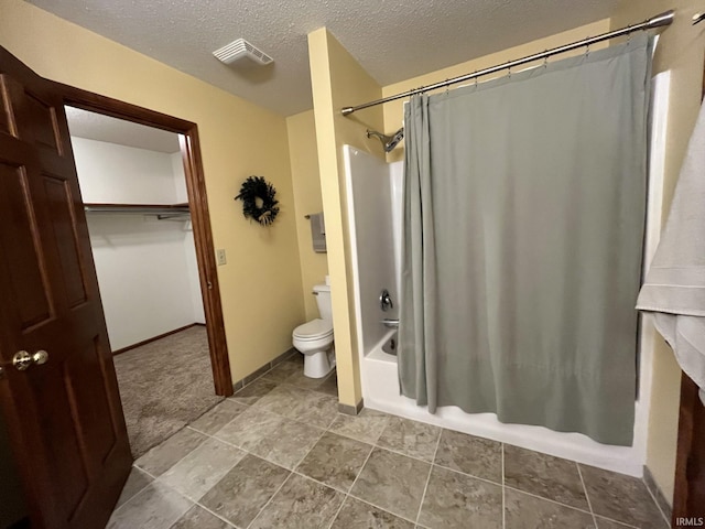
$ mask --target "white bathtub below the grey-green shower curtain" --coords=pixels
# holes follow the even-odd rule
[[[425,406],[400,395],[397,370],[397,331],[384,337],[360,358],[365,407],[415,421],[435,424],[471,435],[535,450],[632,476],[641,476],[642,463],[633,447],[600,444],[581,433],[554,432],[543,427],[506,424],[494,413],[466,413],[446,406],[429,413]]]

